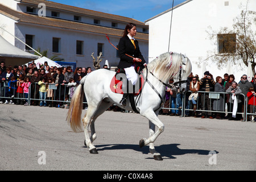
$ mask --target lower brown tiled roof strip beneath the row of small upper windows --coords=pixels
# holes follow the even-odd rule
[[[33,0],[33,1],[38,2],[38,0]],[[51,27],[65,28],[65,29],[77,30],[77,31],[94,32],[97,34],[108,34],[108,35],[114,35],[114,36],[121,36],[123,32],[123,30],[118,30],[110,27],[101,27],[93,24],[79,23],[79,22],[73,22],[70,20],[49,18],[49,17],[22,13],[20,11],[15,11],[13,9],[10,9],[9,7],[2,5],[1,3],[0,3],[0,14],[3,14],[18,22],[32,23],[32,24],[38,24],[42,26],[51,26]],[[136,39],[148,40],[148,34],[137,32]]]

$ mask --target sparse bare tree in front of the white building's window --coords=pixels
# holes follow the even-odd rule
[[[208,38],[214,41],[217,50],[209,51],[207,59],[200,60],[197,65],[212,60],[220,69],[226,66],[227,61],[231,61],[234,65],[246,66],[251,62],[255,74],[256,32],[252,27],[256,27],[256,12],[247,10],[248,2],[241,14],[233,19],[233,30],[222,27],[219,31],[213,31],[212,27],[208,27]]]

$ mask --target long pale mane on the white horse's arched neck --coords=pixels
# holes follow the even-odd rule
[[[147,64],[148,71],[152,72],[159,80],[168,82],[171,77],[179,78],[180,65],[183,65],[182,79],[187,80],[191,73],[191,62],[180,53],[166,52]]]

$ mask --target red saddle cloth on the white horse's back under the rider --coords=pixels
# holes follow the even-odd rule
[[[141,93],[142,90],[142,86],[144,84],[144,77],[143,75],[139,75],[139,90],[136,93],[133,93],[134,96],[137,96],[139,93]],[[120,80],[117,80],[115,78],[115,75],[113,76],[111,82],[110,82],[110,90],[114,93],[119,93],[119,94],[123,94],[123,90],[122,90],[122,84],[123,82]]]

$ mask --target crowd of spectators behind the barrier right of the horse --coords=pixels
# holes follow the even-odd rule
[[[173,82],[171,78],[169,84],[172,86]],[[247,109],[247,113],[255,114],[256,74],[252,81],[247,80],[247,75],[242,75],[240,80],[235,81],[234,75],[227,73],[224,78],[217,76],[216,79],[209,71],[205,72],[201,79],[191,73],[187,80],[187,90],[190,92],[185,92],[184,96],[185,117],[244,121],[245,115],[241,114],[244,109]],[[175,88],[167,88],[164,109],[160,110],[159,114],[181,115],[183,94]],[[253,115],[249,114],[247,120],[254,122]]]

